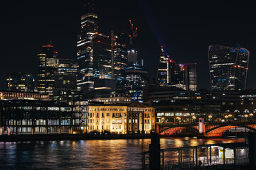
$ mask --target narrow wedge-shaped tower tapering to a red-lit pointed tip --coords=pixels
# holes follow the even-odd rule
[[[169,57],[164,52],[164,48],[161,47],[159,69],[157,71],[157,83],[159,86],[167,86],[170,83],[170,62]]]

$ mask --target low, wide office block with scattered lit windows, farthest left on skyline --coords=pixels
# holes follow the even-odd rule
[[[6,84],[9,91],[34,91],[35,77],[23,72],[10,73],[7,75]]]

